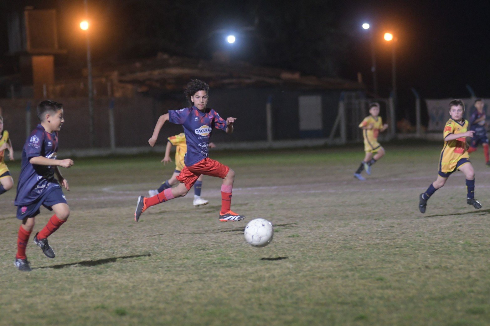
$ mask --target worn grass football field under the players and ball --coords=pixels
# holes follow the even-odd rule
[[[202,195],[147,210],[136,198],[170,176],[160,157],[78,159],[63,173],[71,216],[32,242],[33,271],[13,260],[15,191],[0,196],[1,325],[489,325],[490,169],[472,155],[476,198],[455,173],[417,210],[435,180],[441,144],[389,145],[368,180],[352,177],[362,146],[215,152],[237,174],[232,209],[218,222],[221,180]],[[19,162],[9,163],[17,180]],[[48,221],[42,210],[34,232]],[[246,221],[270,220],[265,248],[245,242]]]

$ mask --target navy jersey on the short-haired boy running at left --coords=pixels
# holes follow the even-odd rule
[[[21,174],[17,184],[17,196],[14,205],[27,206],[38,200],[45,191],[60,187],[54,177],[54,167],[29,163],[33,157],[44,156],[56,159],[58,151],[58,133],[49,134],[38,124],[27,138],[22,149]]]

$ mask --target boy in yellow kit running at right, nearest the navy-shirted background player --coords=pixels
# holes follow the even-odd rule
[[[460,170],[466,177],[466,204],[476,209],[481,209],[482,205],[475,199],[475,172],[469,162],[468,146],[466,137],[473,137],[474,130],[468,131],[468,121],[463,118],[465,104],[462,100],[456,99],[449,102],[449,115],[451,118],[444,127],[444,147],[442,147],[439,159],[439,174],[424,193],[418,196],[418,210],[425,213],[427,200],[444,186],[447,178],[456,170]]]

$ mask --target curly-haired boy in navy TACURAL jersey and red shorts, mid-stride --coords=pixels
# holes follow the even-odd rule
[[[181,124],[186,136],[187,153],[184,158],[185,166],[177,176],[180,184],[174,188],[167,188],[156,196],[146,198],[140,196],[134,212],[134,219],[138,222],[140,215],[148,207],[169,201],[176,197],[185,196],[194,186],[200,175],[209,175],[223,179],[221,184],[221,222],[240,221],[245,218],[231,210],[231,192],[235,181],[235,172],[228,166],[212,160],[208,156],[209,140],[214,128],[221,129],[227,134],[234,130],[233,123],[236,118],[228,117],[226,120],[213,109],[206,108],[208,103],[209,86],[202,80],[193,79],[187,84],[185,94],[190,107],[180,110],[169,110],[169,113],[158,118],[153,130],[153,136],[148,140],[154,146],[158,133],[165,122],[170,121]]]

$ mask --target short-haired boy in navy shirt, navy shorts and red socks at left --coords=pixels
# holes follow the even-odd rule
[[[54,251],[48,244],[48,236],[58,230],[70,215],[70,208],[61,186],[70,189],[58,166],[69,168],[73,161],[56,159],[58,132],[65,122],[63,105],[48,100],[42,101],[37,107],[37,116],[41,123],[31,132],[22,150],[21,174],[14,202],[17,206],[17,218],[22,220],[14,262],[20,271],[31,270],[25,256],[25,247],[34,229],[34,217],[40,213],[41,206],[54,211],[54,215],[41,232],[36,233],[34,242],[49,258],[54,258]]]

